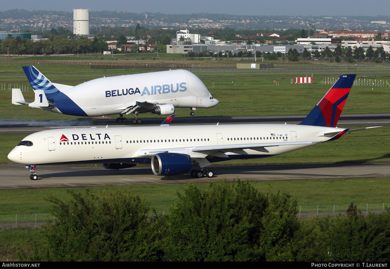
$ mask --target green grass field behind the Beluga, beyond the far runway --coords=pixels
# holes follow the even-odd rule
[[[0,68],[0,86],[2,88],[22,87],[25,100],[32,102],[34,93],[28,85],[21,68],[23,64],[4,64]],[[127,70],[90,69],[83,65],[40,64],[37,66],[52,82],[75,86],[103,75],[124,75]],[[75,76],[76,75],[76,76]],[[296,75],[289,73],[216,73],[197,74],[209,91],[220,103],[210,109],[198,109],[197,116],[255,116],[255,115],[295,115],[307,114],[330,88],[329,84],[320,84],[324,75],[314,76],[313,84],[291,84]],[[308,74],[310,75],[310,74]],[[17,77],[11,77],[17,76]],[[336,77],[332,74],[332,77]],[[360,79],[378,79],[390,81],[390,75],[358,75]],[[274,84],[278,82],[278,86]],[[343,113],[385,113],[390,107],[390,87],[354,86],[349,95]],[[0,91],[1,120],[39,120],[74,119],[75,116],[56,114],[26,105],[12,105],[11,91]],[[189,116],[188,109],[176,109],[177,116]],[[117,115],[113,115],[116,118]],[[142,118],[156,117],[145,113]],[[161,116],[161,118],[164,118]]]

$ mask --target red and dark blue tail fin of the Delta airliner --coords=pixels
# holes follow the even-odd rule
[[[336,127],[356,75],[341,75],[325,96],[299,124]]]

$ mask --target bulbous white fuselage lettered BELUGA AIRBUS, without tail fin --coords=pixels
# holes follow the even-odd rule
[[[188,108],[208,108],[218,104],[203,82],[186,70],[96,78],[69,89],[62,90],[59,86],[58,89],[75,103],[77,109],[69,108],[65,99],[48,96],[48,100],[53,98],[56,107],[45,110],[75,116],[120,114],[122,110],[118,109],[138,102]]]

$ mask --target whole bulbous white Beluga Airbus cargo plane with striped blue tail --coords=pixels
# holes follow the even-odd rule
[[[23,70],[35,92],[35,100],[28,103],[20,89],[12,89],[12,103],[61,114],[119,114],[117,122],[121,122],[126,121],[123,114],[135,113],[132,123],[141,123],[138,113],[171,115],[176,107],[188,107],[193,116],[196,108],[218,104],[203,82],[186,70],[96,78],[74,87],[52,83],[34,66],[23,66]]]

